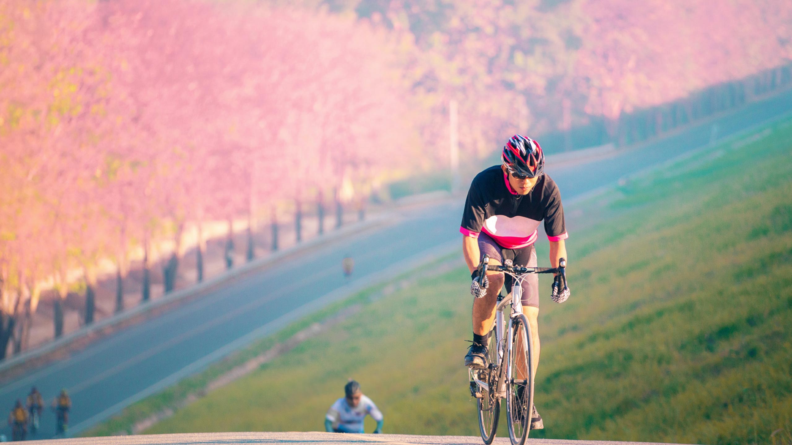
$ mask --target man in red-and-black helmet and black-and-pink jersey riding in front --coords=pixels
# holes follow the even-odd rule
[[[473,344],[465,356],[468,367],[487,366],[487,347],[495,319],[497,295],[504,284],[502,272],[478,276],[482,256],[489,256],[489,264],[511,260],[515,265],[536,267],[534,243],[538,238],[539,223],[544,221],[550,240],[550,264],[558,267],[558,260],[567,258],[561,193],[555,182],[544,174],[544,160],[539,143],[514,135],[503,147],[501,165],[493,165],[478,173],[470,184],[459,229],[463,234],[463,255],[473,280],[470,293],[475,297]],[[507,291],[511,291],[511,281],[509,277]],[[558,280],[555,280],[551,295],[553,301],[564,302],[568,297],[569,291],[559,291]],[[531,323],[535,375],[539,365],[539,276],[531,275],[523,281],[523,311]],[[544,428],[536,406],[531,409],[531,429]]]

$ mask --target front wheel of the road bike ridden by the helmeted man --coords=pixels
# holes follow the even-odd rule
[[[534,376],[531,368],[533,349],[531,344],[531,325],[524,314],[512,318],[511,353],[508,367],[511,380],[506,385],[506,413],[508,418],[508,437],[512,445],[524,445],[531,430],[531,408],[534,404]],[[523,353],[520,354],[520,351]],[[525,378],[516,378],[520,370]],[[520,386],[523,390],[519,390]],[[522,397],[520,397],[522,394]],[[527,394],[527,397],[526,397]]]

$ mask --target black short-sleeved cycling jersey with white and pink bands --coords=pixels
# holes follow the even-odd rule
[[[501,247],[520,249],[536,242],[536,229],[543,220],[550,241],[568,238],[555,181],[543,174],[531,192],[518,195],[501,166],[493,165],[470,184],[459,231],[472,238],[483,231]]]

